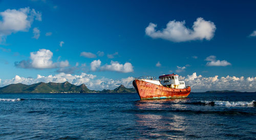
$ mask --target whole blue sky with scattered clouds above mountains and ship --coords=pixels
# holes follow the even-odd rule
[[[239,80],[231,78],[221,89],[231,89],[235,81],[248,91],[250,84],[255,87],[254,79],[248,80],[256,71],[255,6],[253,1],[0,1],[0,86],[69,80],[101,90],[131,87],[132,77],[142,75],[177,73],[188,81],[196,73],[193,80],[201,82],[206,81],[198,75],[218,75],[219,83],[209,80],[208,89],[226,82],[221,77],[235,76]],[[17,20],[20,13],[27,18]]]

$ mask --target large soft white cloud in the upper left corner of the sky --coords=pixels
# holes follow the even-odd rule
[[[41,21],[41,13],[35,9],[20,8],[7,9],[0,12],[0,42],[5,41],[6,36],[16,32],[28,32],[34,19]]]

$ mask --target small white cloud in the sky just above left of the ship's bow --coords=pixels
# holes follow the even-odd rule
[[[111,61],[111,65],[104,65],[100,68],[102,71],[117,71],[121,73],[133,72],[133,66],[131,63],[126,62],[124,65],[119,64],[116,61]]]

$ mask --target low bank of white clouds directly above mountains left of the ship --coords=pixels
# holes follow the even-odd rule
[[[0,80],[0,86],[3,87],[11,83],[24,83],[26,85],[31,85],[37,82],[69,81],[74,85],[81,85],[82,83],[84,83],[90,90],[103,90],[103,89],[113,90],[120,85],[124,85],[127,88],[132,88],[133,79],[134,79],[133,77],[121,78],[118,80],[105,78],[105,77],[96,78],[96,75],[87,74],[87,73],[81,73],[80,75],[59,73],[59,74],[48,75],[48,76],[43,76],[38,74],[36,78],[25,78],[25,77],[20,77],[16,75],[12,79],[4,79],[4,80],[2,79],[2,81]]]

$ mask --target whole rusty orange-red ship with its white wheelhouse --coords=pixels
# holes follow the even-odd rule
[[[156,77],[142,76],[135,78],[133,86],[141,100],[186,98],[191,89],[177,74],[165,74]]]

